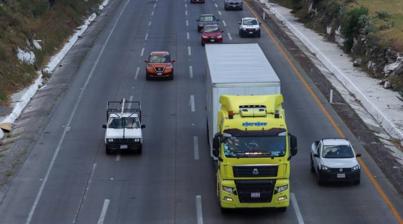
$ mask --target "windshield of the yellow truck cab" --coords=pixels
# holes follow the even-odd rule
[[[227,158],[237,157],[284,157],[286,136],[228,137],[224,141]]]

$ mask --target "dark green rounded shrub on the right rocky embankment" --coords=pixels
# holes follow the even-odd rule
[[[368,16],[369,10],[363,6],[358,8],[354,8],[345,13],[342,22],[342,35],[345,39],[344,48],[347,51],[350,51],[353,47],[354,37],[359,34],[362,24],[359,24],[359,19],[361,16]]]

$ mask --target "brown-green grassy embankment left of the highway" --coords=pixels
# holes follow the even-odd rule
[[[0,104],[10,103],[10,96],[29,86],[75,29],[91,13],[97,13],[101,0],[0,0]],[[30,44],[27,43],[27,40]],[[42,49],[33,47],[39,40]],[[22,63],[17,48],[33,51],[33,65]],[[46,74],[49,76],[50,74]]]

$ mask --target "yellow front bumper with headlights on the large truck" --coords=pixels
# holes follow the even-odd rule
[[[259,193],[259,196],[263,196],[263,192],[248,192],[247,190],[237,189],[235,186],[235,181],[233,180],[223,180],[220,184],[220,204],[223,208],[280,208],[288,207],[290,205],[290,185],[288,179],[277,179],[273,180],[275,182],[274,190],[270,193],[271,200],[267,202],[259,202],[259,200],[254,200],[253,198],[247,198],[248,195],[252,193]],[[288,188],[282,192],[277,193],[277,188],[279,186],[288,185]],[[232,187],[234,193],[229,193],[223,190],[222,186]],[[241,196],[242,195],[242,196]],[[240,196],[243,197],[243,201],[240,200]],[[232,201],[231,201],[232,200]],[[241,202],[242,201],[242,202]]]

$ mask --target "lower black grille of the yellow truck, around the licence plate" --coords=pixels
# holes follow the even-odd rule
[[[235,180],[235,186],[241,203],[268,203],[272,201],[276,180]],[[259,193],[259,197],[252,197]]]

